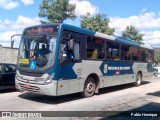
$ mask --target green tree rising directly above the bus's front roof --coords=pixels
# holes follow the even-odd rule
[[[49,22],[62,23],[66,19],[76,18],[75,8],[76,5],[69,4],[68,0],[43,0],[39,17],[47,18]]]

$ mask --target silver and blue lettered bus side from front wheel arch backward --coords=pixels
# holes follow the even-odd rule
[[[83,80],[80,81],[80,91],[83,91],[84,82],[91,74],[98,75],[100,88],[133,83],[135,74],[132,67],[133,62],[83,60]]]

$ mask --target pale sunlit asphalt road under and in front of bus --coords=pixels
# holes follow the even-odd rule
[[[54,119],[136,119],[145,114],[151,115],[148,111],[152,111],[152,116],[160,115],[160,78],[152,78],[144,80],[143,84],[135,87],[133,84],[109,87],[101,89],[98,95],[90,98],[83,98],[80,94],[65,95],[59,97],[38,95],[33,93],[20,93],[15,90],[0,91],[0,111],[12,112],[30,112],[30,111],[52,111],[41,113],[42,116],[56,116]],[[60,112],[53,112],[60,111]],[[68,112],[63,112],[68,111]],[[82,111],[82,112],[76,112]],[[85,112],[86,111],[86,112]],[[89,112],[88,112],[89,111]],[[98,111],[98,112],[91,112]],[[111,112],[106,112],[111,111]],[[114,112],[117,111],[117,112]],[[129,111],[123,113],[123,111]],[[133,111],[145,111],[137,114]],[[159,112],[157,112],[159,111]],[[18,113],[17,112],[17,113]],[[120,112],[120,113],[119,113]],[[132,113],[132,116],[131,116]],[[22,113],[21,113],[22,114]],[[28,115],[28,113],[25,113]],[[23,114],[23,115],[25,115]],[[40,115],[37,114],[37,115]],[[67,115],[70,117],[67,117]],[[1,119],[22,119],[20,117]],[[102,115],[102,116],[101,116]],[[103,116],[104,115],[104,116]],[[110,115],[110,117],[108,116]],[[130,116],[129,116],[130,115]],[[138,116],[139,115],[139,116]],[[78,117],[83,116],[83,117]],[[107,117],[105,117],[107,116]],[[136,116],[136,117],[135,117]],[[121,117],[121,118],[120,118]],[[146,119],[154,119],[152,117],[142,117]],[[23,118],[24,119],[24,118]],[[37,118],[25,118],[37,119]],[[48,119],[48,118],[38,118]],[[53,119],[50,117],[50,119]],[[155,120],[155,119],[154,119]]]

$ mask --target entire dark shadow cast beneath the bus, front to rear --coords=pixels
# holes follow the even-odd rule
[[[143,81],[142,85],[145,85],[148,83],[150,82]],[[119,86],[114,86],[114,87],[107,87],[107,88],[101,89],[99,94],[110,93],[113,91],[123,90],[123,89],[131,88],[131,87],[134,87],[134,85],[127,84],[127,85],[119,85]],[[40,94],[26,92],[26,93],[22,93],[18,97],[22,99],[26,99],[26,100],[45,103],[45,104],[60,104],[60,103],[65,103],[65,102],[74,101],[78,99],[84,99],[79,93],[63,95],[63,96],[47,96],[47,95],[40,95]]]

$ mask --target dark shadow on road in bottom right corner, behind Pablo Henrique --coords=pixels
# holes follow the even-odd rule
[[[101,120],[160,120],[160,103],[151,102],[130,111],[117,112],[118,114],[115,112],[115,115]]]

